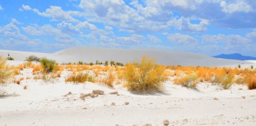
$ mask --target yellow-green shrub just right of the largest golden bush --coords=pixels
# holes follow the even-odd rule
[[[193,88],[193,89],[196,89],[198,82],[199,80],[196,72],[192,72],[192,73],[186,74],[185,76],[177,77],[176,79],[174,79],[175,84],[179,84],[186,88]]]

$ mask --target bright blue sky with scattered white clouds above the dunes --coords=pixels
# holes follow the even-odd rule
[[[0,50],[76,46],[256,56],[256,1],[0,0]]]

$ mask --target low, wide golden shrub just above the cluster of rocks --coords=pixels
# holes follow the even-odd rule
[[[86,72],[78,72],[76,74],[71,74],[70,76],[68,76],[65,80],[65,82],[73,82],[75,84],[77,83],[83,83],[83,82],[95,82],[96,80],[96,76]]]

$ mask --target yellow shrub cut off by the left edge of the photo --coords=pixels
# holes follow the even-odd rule
[[[0,84],[5,84],[11,80],[13,76],[13,68],[8,66],[5,60],[0,57]]]

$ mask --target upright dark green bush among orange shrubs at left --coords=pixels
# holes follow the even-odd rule
[[[40,60],[41,62],[41,66],[43,69],[43,72],[45,72],[46,74],[53,72],[54,68],[55,68],[55,60],[49,60],[47,58],[42,58]]]

